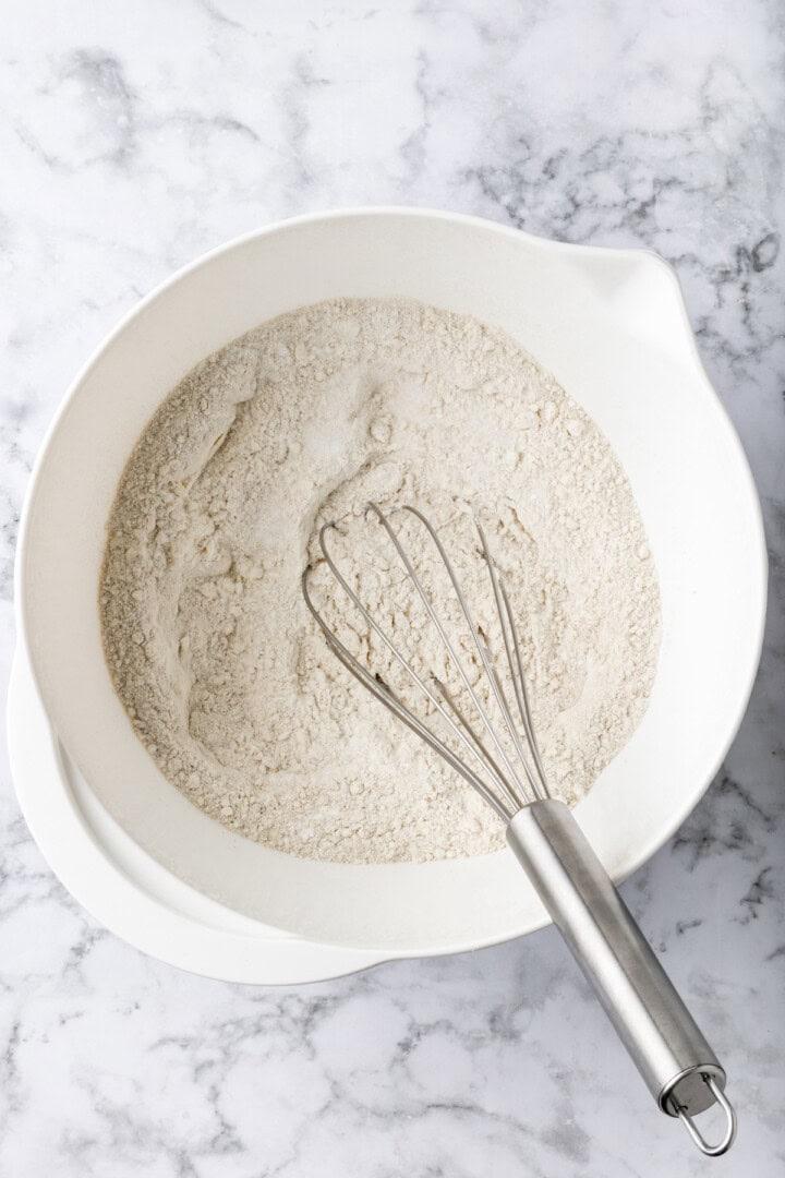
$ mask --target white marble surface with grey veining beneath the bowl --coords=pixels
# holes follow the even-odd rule
[[[707,1163],[660,1118],[552,929],[304,988],[142,958],[78,908],[2,762],[8,1178],[785,1172],[785,31],[776,0],[6,0],[0,38],[0,656],[35,449],[118,317],[272,219],[408,203],[677,266],[772,552],[741,733],[625,886],[731,1076]]]

